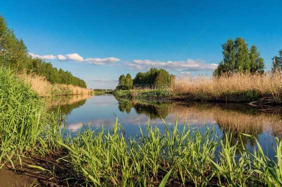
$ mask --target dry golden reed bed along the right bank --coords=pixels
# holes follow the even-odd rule
[[[171,91],[178,99],[250,102],[264,98],[265,102],[281,103],[282,73],[180,75]]]

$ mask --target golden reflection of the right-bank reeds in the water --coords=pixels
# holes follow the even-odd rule
[[[263,132],[269,132],[273,136],[281,138],[282,121],[281,107],[279,106],[250,106],[243,104],[216,104],[216,103],[175,103],[170,106],[172,117],[176,113],[196,118],[214,119],[219,129],[231,140],[231,145],[238,142],[239,147],[249,143],[255,145],[255,139],[241,135],[240,132],[253,135],[258,139]]]

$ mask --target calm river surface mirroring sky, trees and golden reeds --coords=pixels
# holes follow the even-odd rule
[[[112,128],[116,117],[125,130],[125,136],[135,136],[139,126],[146,130],[150,124],[165,130],[167,125],[173,127],[179,116],[179,127],[184,126],[185,119],[190,128],[205,128],[204,123],[215,127],[217,135],[224,138],[225,132],[232,133],[231,143],[238,140],[239,132],[254,135],[263,147],[265,154],[273,157],[273,136],[281,137],[282,110],[278,106],[249,106],[243,104],[223,103],[158,103],[156,105],[118,102],[111,94],[81,95],[72,97],[57,97],[46,101],[51,111],[57,111],[60,105],[61,113],[67,117],[66,129],[74,134],[82,124],[93,128],[104,124]],[[255,139],[242,137],[244,146],[253,149]]]

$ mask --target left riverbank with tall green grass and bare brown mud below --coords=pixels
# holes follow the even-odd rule
[[[65,171],[71,168],[56,161],[65,154],[57,143],[64,141],[62,119],[59,114],[47,113],[44,101],[31,85],[3,67],[0,108],[0,185],[68,185],[65,179],[71,174]]]

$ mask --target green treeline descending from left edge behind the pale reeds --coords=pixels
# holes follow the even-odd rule
[[[71,84],[86,88],[86,83],[74,77],[71,72],[63,71],[46,63],[42,59],[32,59],[23,40],[16,38],[14,31],[7,27],[3,15],[0,15],[0,65],[24,73],[36,73],[47,78],[52,84]]]

